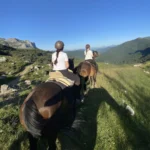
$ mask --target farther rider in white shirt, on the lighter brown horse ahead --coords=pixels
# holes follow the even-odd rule
[[[94,60],[93,51],[90,49],[90,45],[86,44],[85,49],[86,49],[84,51],[85,60],[89,61],[90,63],[92,63],[93,65],[95,65],[95,68],[98,71],[98,65],[97,65],[97,63]]]

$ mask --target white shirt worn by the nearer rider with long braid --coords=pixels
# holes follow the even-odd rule
[[[57,64],[55,65],[54,62],[56,60],[56,54],[57,54],[57,52],[54,52],[52,54],[53,70],[65,70],[65,69],[67,69],[66,65],[65,65],[65,62],[68,61],[67,54],[62,52],[62,51],[59,52],[58,58],[57,58]]]

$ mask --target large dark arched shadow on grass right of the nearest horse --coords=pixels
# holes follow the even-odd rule
[[[113,81],[112,84],[119,86],[119,82],[117,81]],[[150,132],[148,129],[140,121],[136,120],[136,118],[128,115],[125,109],[104,88],[90,90],[85,99],[85,103],[77,110],[76,119],[72,128],[60,131],[58,139],[61,149],[94,150],[97,137],[97,114],[102,102],[106,102],[118,114],[121,126],[128,139],[128,143],[124,143],[119,137],[116,137],[116,150],[125,149],[123,145],[126,144],[130,144],[133,150],[148,150],[150,148]],[[18,140],[13,142],[9,150],[20,150],[19,145],[23,140],[24,136],[19,136]],[[15,147],[15,145],[18,147]]]

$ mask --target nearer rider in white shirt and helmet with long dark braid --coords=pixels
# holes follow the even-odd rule
[[[52,54],[52,66],[53,72],[60,71],[63,76],[67,77],[68,79],[74,81],[74,86],[69,88],[65,88],[65,96],[69,99],[70,104],[75,104],[75,100],[80,100],[80,78],[78,75],[68,71],[69,68],[69,59],[64,49],[64,43],[62,41],[57,41],[55,43],[56,52]],[[72,93],[74,92],[74,93]],[[74,95],[74,96],[72,96]]]

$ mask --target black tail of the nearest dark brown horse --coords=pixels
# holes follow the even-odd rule
[[[34,137],[41,136],[46,120],[39,114],[36,104],[32,98],[25,103],[23,116],[27,131]]]

